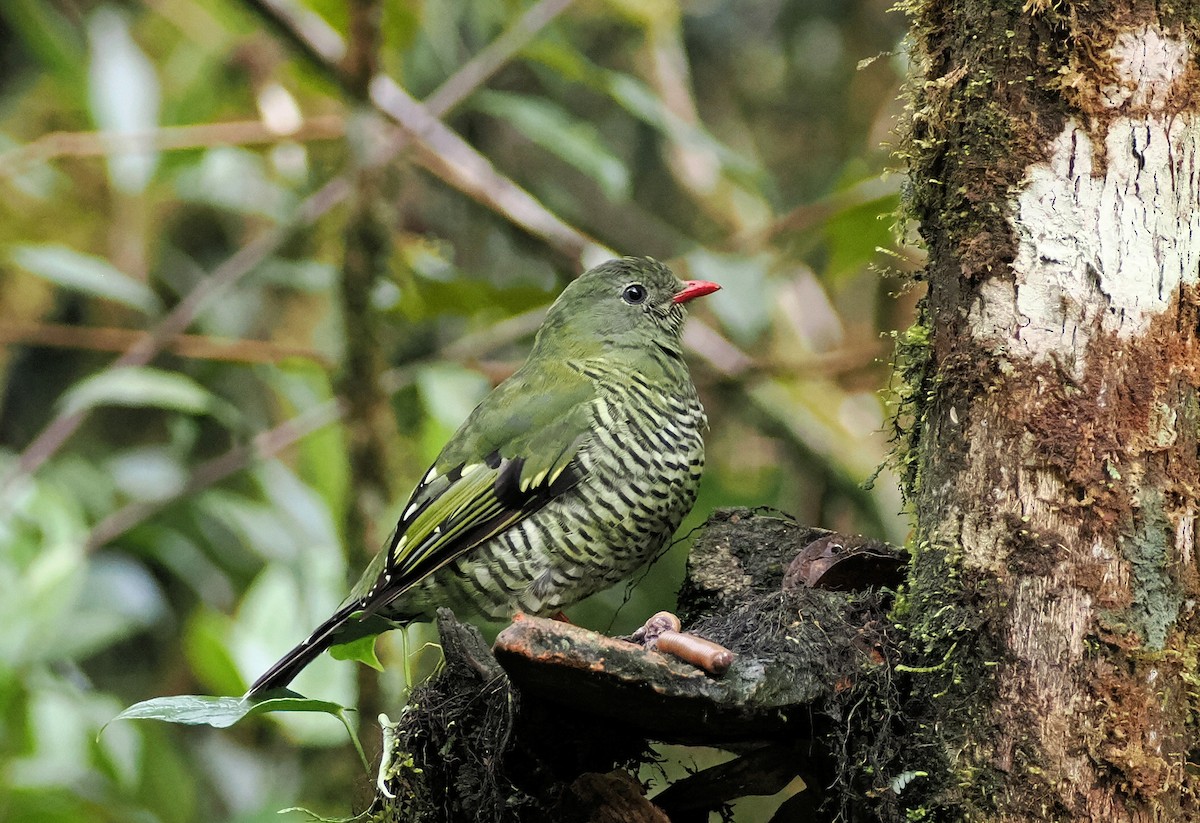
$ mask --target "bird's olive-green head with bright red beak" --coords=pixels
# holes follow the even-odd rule
[[[563,290],[546,314],[536,347],[587,354],[656,343],[678,350],[684,304],[719,288],[703,280],[682,281],[649,257],[608,260]]]

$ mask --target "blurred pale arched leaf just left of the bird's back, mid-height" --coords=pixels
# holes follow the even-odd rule
[[[97,406],[130,406],[208,414],[218,406],[208,389],[184,374],[149,366],[110,368],[84,378],[59,401],[62,414],[74,414]]]

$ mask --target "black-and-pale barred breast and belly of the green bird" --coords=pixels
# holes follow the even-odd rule
[[[670,356],[667,354],[664,358]],[[596,383],[583,480],[544,509],[436,572],[397,600],[396,615],[438,606],[504,620],[553,614],[628,577],[691,510],[704,467],[704,410],[682,362],[670,390],[602,361],[577,368]]]

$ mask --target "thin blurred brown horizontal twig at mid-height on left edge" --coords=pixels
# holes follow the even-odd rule
[[[90,352],[125,352],[144,341],[149,332],[134,329],[71,326],[60,323],[38,325],[0,325],[0,346],[47,346]],[[307,346],[286,346],[265,340],[221,340],[200,335],[180,335],[163,346],[164,352],[194,360],[276,364],[289,358],[312,360],[322,368],[332,364],[324,354]]]

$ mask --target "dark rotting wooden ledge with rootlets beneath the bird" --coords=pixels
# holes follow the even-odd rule
[[[682,823],[796,776],[810,787],[852,782],[841,741],[860,722],[862,693],[890,683],[894,660],[888,595],[871,587],[904,563],[877,541],[774,512],[714,513],[692,547],[679,611],[683,629],[734,653],[724,677],[540,618],[515,621],[488,649],[443,609],[446,667],[401,719],[400,765],[388,775],[396,798],[377,799],[377,819]],[[822,581],[860,590],[809,588]],[[652,740],[740,757],[647,800],[636,769],[623,769],[653,762]],[[832,819],[856,792],[817,812],[821,795],[805,791],[776,819]]]

